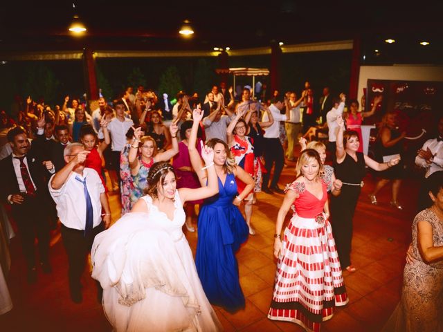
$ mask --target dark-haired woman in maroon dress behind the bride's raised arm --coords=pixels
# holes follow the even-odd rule
[[[179,142],[179,153],[174,156],[172,160],[172,166],[174,166],[175,174],[177,174],[177,188],[199,188],[199,177],[192,169],[191,160],[189,156],[189,137],[192,129],[192,121],[186,120],[181,124],[180,137],[182,140]],[[197,150],[201,154],[200,148],[201,139],[197,139]],[[196,204],[201,204],[203,201],[189,201],[183,206],[186,212],[186,229],[189,232],[195,232],[195,228],[192,226],[192,216],[195,214],[194,207]]]

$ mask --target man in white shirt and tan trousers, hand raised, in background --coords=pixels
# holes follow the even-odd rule
[[[289,96],[289,100],[286,101],[289,103],[287,107],[289,107],[289,119],[284,122],[284,129],[286,129],[286,136],[288,138],[288,148],[286,151],[286,158],[289,161],[293,161],[293,147],[298,144],[298,135],[302,131],[302,122],[300,120],[300,114],[302,110],[302,100],[305,98],[305,91],[302,92],[302,96],[299,100],[297,100],[297,95],[295,92],[287,93],[287,97]]]

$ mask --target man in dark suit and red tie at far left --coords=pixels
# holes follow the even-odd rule
[[[44,119],[37,122],[38,133],[35,140],[44,139]],[[48,187],[45,177],[55,171],[51,161],[44,161],[38,144],[30,147],[28,135],[23,127],[8,131],[8,142],[12,154],[0,161],[1,200],[12,205],[12,217],[17,223],[21,246],[28,268],[28,282],[37,281],[35,259],[35,233],[37,233],[40,265],[44,273],[51,273],[49,264],[49,223],[47,214]]]

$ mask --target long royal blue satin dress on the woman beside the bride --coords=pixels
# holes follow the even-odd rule
[[[233,205],[237,194],[234,174],[219,179],[219,194],[204,201],[198,221],[195,265],[211,304],[233,312],[244,308],[235,252],[248,239],[248,225]]]

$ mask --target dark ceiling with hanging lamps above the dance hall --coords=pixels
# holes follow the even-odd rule
[[[368,48],[388,37],[406,52],[419,40],[443,48],[442,4],[438,1],[2,1],[0,51],[212,50],[302,44],[361,37]],[[87,34],[67,30],[74,14]],[[179,36],[183,19],[195,35]],[[400,47],[400,46],[396,46]]]

